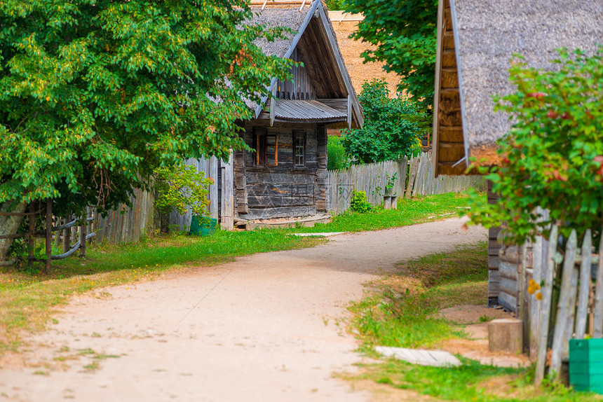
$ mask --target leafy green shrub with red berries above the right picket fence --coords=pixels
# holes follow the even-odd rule
[[[552,222],[561,233],[599,231],[603,225],[602,54],[584,57],[560,50],[554,71],[513,61],[510,81],[517,91],[495,97],[496,109],[513,116],[499,140],[501,167],[487,176],[501,195],[496,205],[475,200],[473,223],[506,228],[506,242],[522,244]],[[548,219],[534,209],[550,211]]]

